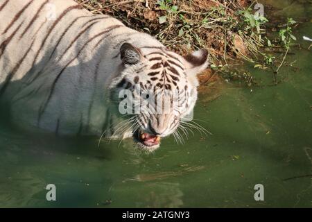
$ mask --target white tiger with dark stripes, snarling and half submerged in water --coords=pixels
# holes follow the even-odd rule
[[[179,56],[154,37],[71,0],[0,0],[0,19],[1,108],[20,126],[134,137],[153,150],[193,110],[196,90],[192,99],[182,98],[178,114],[123,115],[116,92],[133,91],[135,84],[196,89],[196,74],[208,65],[205,49]]]

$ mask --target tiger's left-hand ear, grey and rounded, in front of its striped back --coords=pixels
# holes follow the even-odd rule
[[[141,60],[142,53],[137,47],[126,42],[120,48],[120,56],[123,65],[135,65]]]

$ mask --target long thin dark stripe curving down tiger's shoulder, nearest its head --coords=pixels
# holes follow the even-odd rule
[[[40,112],[39,112],[39,121],[40,121],[40,117],[43,114],[44,110],[46,109],[46,105],[48,105],[49,101],[51,100],[51,97],[53,95],[56,83],[58,83],[58,80],[60,78],[60,76],[62,76],[62,73],[64,72],[65,69],[67,69],[67,67],[71,64],[71,62],[73,62],[73,60],[75,60],[76,58],[78,58],[78,56],[80,56],[80,53],[83,51],[83,49],[85,49],[85,46],[87,46],[87,44],[89,44],[89,42],[92,42],[92,40],[94,40],[96,37],[99,37],[105,33],[108,33],[110,31],[112,31],[115,28],[119,28],[119,27],[123,27],[123,25],[115,25],[115,26],[110,26],[108,30],[105,30],[101,33],[98,33],[97,35],[94,35],[94,37],[92,37],[91,39],[89,39],[84,45],[83,47],[80,49],[80,51],[78,51],[77,55],[70,60],[69,62],[67,62],[67,65],[65,65],[65,67],[60,71],[60,73],[58,74],[58,76],[56,76],[55,80],[53,80],[53,84],[51,86],[50,92],[49,92],[49,96],[48,99],[46,100],[46,102],[44,103],[44,105],[42,106],[42,108],[40,108]]]

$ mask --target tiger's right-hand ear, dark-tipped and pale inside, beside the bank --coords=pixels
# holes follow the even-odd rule
[[[188,74],[197,75],[201,71],[207,69],[209,65],[207,49],[200,49],[184,56],[183,58],[185,60],[185,67]]]

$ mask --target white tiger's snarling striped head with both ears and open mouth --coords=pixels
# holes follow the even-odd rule
[[[182,57],[163,47],[144,50],[124,43],[120,56],[121,72],[110,88],[125,117],[121,128],[130,130],[141,148],[153,151],[162,137],[179,137],[177,128],[190,118],[197,100],[196,75],[207,68],[208,51]]]

